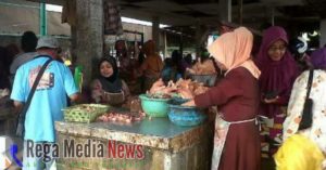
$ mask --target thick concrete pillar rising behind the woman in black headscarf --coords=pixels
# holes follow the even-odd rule
[[[76,0],[76,26],[72,29],[73,51],[84,68],[84,86],[95,75],[96,61],[103,53],[103,0]]]

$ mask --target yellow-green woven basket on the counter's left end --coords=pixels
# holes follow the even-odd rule
[[[109,106],[101,104],[80,104],[62,109],[65,121],[92,122],[98,116],[108,112]]]

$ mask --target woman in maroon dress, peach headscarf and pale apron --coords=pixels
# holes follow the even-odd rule
[[[260,70],[251,60],[253,36],[244,27],[222,35],[209,52],[225,78],[208,92],[193,96],[184,105],[217,106],[212,170],[259,170],[260,138],[255,117],[259,109]]]

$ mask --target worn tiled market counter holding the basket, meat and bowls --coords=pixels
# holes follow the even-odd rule
[[[130,125],[117,122],[75,123],[59,121],[55,122],[55,130],[60,151],[66,152],[67,148],[72,149],[73,146],[70,141],[74,141],[74,144],[90,143],[90,152],[93,154],[99,153],[99,151],[101,151],[99,148],[102,148],[97,147],[98,144],[104,147],[103,154],[100,153],[96,155],[96,158],[85,155],[80,158],[73,158],[73,156],[70,155],[68,157],[71,158],[67,158],[66,155],[63,156],[61,152],[58,160],[59,169],[210,169],[213,147],[213,123],[209,123],[209,121],[196,127],[178,127],[172,123],[168,118],[149,119],[148,117]],[[113,143],[113,141],[116,143]],[[65,144],[71,145],[67,147]],[[129,157],[127,155],[128,151],[124,151],[124,148],[127,148],[124,147],[125,145],[136,146],[134,147],[136,151],[134,151],[136,153],[134,157]],[[114,149],[116,147],[117,149]],[[75,148],[78,149],[77,147]],[[76,149],[74,152],[76,152]],[[70,154],[72,154],[72,151],[70,152]],[[85,152],[87,152],[87,149],[84,151],[84,153]],[[121,153],[116,154],[115,152]]]

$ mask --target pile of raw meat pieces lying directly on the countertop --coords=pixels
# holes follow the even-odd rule
[[[115,113],[115,112],[110,112],[106,113],[100,117],[98,117],[99,121],[115,121],[115,122],[124,122],[124,123],[131,123],[135,121],[140,121],[146,117],[145,113]]]

